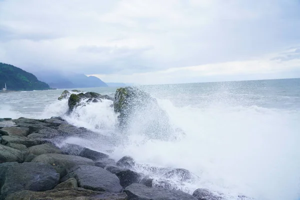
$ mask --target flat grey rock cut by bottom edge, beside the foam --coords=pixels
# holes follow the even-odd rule
[[[197,200],[194,196],[180,190],[150,188],[133,183],[124,189],[128,200]]]

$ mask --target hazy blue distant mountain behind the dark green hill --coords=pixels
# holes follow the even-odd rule
[[[34,74],[54,88],[107,87],[95,76],[57,71],[35,71]]]

